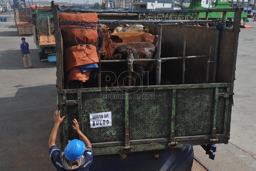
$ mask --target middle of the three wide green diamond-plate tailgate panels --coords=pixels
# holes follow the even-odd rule
[[[130,140],[170,136],[171,91],[158,90],[155,92],[155,99],[129,100]]]

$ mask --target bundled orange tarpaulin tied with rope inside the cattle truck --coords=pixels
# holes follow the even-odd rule
[[[66,70],[68,71],[68,78],[72,78],[69,80],[79,80],[79,81],[85,82],[86,79],[88,80],[89,75],[86,77],[82,76],[83,74],[79,75],[78,70],[80,69],[77,70],[74,68],[76,66],[93,64],[93,63],[99,62],[97,49],[96,49],[97,38],[98,38],[96,24],[88,23],[88,22],[98,22],[98,16],[96,13],[83,13],[83,14],[61,13],[60,20],[70,21],[70,22],[76,21],[68,24],[60,24],[62,39],[66,46],[64,50],[64,57],[66,62]],[[84,22],[84,23],[77,24],[77,22]],[[93,25],[93,26],[88,26],[88,25]],[[83,45],[83,44],[94,44],[95,46]],[[74,72],[75,70],[76,72]],[[75,74],[75,75],[72,75],[72,74]],[[80,74],[81,74],[81,70],[80,70]]]

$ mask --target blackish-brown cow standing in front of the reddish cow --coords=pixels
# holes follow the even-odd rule
[[[132,49],[132,56],[134,59],[154,59],[156,58],[157,48],[149,42],[136,42],[128,43],[126,45],[118,46],[113,53],[112,60],[121,60],[127,59],[130,54],[130,49]],[[132,73],[132,86],[141,85],[143,80],[143,85],[155,85],[155,66],[156,62],[133,62],[133,71]],[[127,80],[127,62],[123,63],[114,63],[113,72],[118,77],[118,86],[128,86]],[[154,70],[153,74],[151,74]],[[144,72],[145,71],[145,72]],[[143,77],[143,79],[137,80],[138,76]],[[149,80],[147,80],[147,77]]]

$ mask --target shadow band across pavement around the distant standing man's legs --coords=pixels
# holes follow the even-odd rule
[[[31,42],[31,43],[28,42],[28,43],[30,48],[34,47],[34,42]],[[48,61],[40,62],[37,49],[30,49],[29,51],[30,51],[30,58],[32,61],[32,65],[35,66],[35,68],[30,68],[27,61],[27,66],[29,67],[29,69],[56,67],[56,62],[48,62]],[[0,65],[0,70],[29,70],[24,67],[23,58],[20,52],[20,44],[17,44],[16,49],[0,51],[0,55],[1,55],[0,63],[4,64],[4,65]]]

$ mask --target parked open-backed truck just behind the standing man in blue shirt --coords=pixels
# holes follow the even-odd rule
[[[37,7],[32,10],[34,43],[38,49],[39,60],[56,61],[54,21],[49,7]]]

